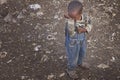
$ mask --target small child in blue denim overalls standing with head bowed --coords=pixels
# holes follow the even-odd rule
[[[83,63],[86,53],[86,33],[91,31],[91,21],[86,14],[82,14],[83,5],[74,0],[68,5],[68,14],[65,15],[65,47],[68,58],[68,75],[77,79],[76,67],[88,69],[89,66]]]

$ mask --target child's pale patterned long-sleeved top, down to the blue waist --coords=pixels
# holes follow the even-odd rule
[[[69,36],[70,39],[77,39],[77,40],[85,39],[86,32],[78,33],[76,31],[77,27],[85,28],[89,33],[92,29],[92,23],[90,17],[87,16],[87,14],[83,14],[81,20],[77,20],[77,21],[74,21],[73,19],[66,20],[65,34],[67,34],[67,36]]]

